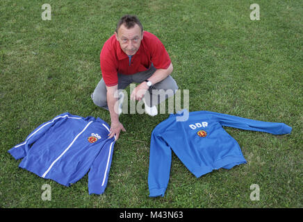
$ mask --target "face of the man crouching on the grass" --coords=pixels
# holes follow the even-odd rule
[[[118,33],[115,32],[115,37],[117,41],[120,42],[122,51],[124,51],[127,56],[133,56],[140,47],[143,34],[138,24],[129,29],[122,24],[118,29]]]

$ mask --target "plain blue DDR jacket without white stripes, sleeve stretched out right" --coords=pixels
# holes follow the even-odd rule
[[[189,114],[187,121],[178,121],[186,112]],[[213,169],[231,169],[246,163],[240,146],[222,126],[275,135],[288,134],[292,130],[284,123],[256,121],[217,112],[183,110],[183,115],[181,113],[170,114],[151,133],[148,175],[150,197],[165,194],[170,178],[172,151],[197,178]]]

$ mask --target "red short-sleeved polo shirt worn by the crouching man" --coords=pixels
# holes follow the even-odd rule
[[[162,42],[156,35],[147,31],[144,32],[138,51],[131,58],[131,65],[129,65],[129,57],[122,51],[115,35],[104,43],[100,53],[101,73],[107,86],[117,85],[118,73],[132,75],[146,71],[151,67],[151,63],[156,69],[167,69],[170,62],[170,56]]]

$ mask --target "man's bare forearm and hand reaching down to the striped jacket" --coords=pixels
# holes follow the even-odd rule
[[[117,96],[117,85],[114,86],[106,86],[107,89],[107,105],[110,113],[110,134],[108,134],[108,138],[112,138],[115,136],[115,140],[119,138],[121,130],[126,132],[124,126],[119,121],[118,114],[118,96]],[[116,95],[115,95],[116,94]]]

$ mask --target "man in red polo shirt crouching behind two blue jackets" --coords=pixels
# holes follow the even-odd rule
[[[178,89],[177,83],[170,76],[172,62],[165,47],[155,35],[143,31],[136,16],[124,15],[117,23],[114,35],[101,50],[100,66],[102,78],[91,97],[95,105],[109,110],[109,137],[115,136],[116,140],[121,130],[126,131],[119,121],[124,94],[120,94],[122,99],[117,103],[118,89],[125,89],[131,83],[140,83],[131,92],[131,99],[143,99],[145,112],[150,116],[158,114],[156,105]],[[163,97],[158,93],[153,94],[152,89],[164,89],[165,92],[172,89],[169,90],[172,94]]]

